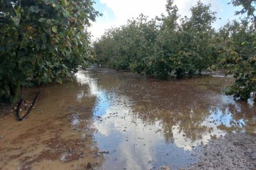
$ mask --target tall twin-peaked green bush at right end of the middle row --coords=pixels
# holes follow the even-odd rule
[[[190,10],[190,18],[181,18],[181,24],[177,24],[177,8],[167,7],[168,16],[163,17],[163,25],[157,46],[160,46],[158,54],[161,61],[167,66],[167,71],[174,71],[177,78],[185,73],[193,75],[209,68],[216,58],[214,41],[215,30],[211,27],[216,19],[215,12],[211,12],[210,6],[198,1]],[[170,10],[171,9],[171,10]],[[167,76],[167,73],[166,73]]]

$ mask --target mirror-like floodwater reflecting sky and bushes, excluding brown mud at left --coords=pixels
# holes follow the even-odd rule
[[[233,81],[208,77],[160,81],[132,73],[91,68],[77,74],[95,96],[95,140],[105,152],[103,168],[186,167],[191,151],[227,132],[256,133],[252,101],[221,94]],[[77,100],[86,97],[77,95]]]

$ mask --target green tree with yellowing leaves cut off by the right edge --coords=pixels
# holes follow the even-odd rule
[[[249,99],[252,92],[256,91],[255,2],[232,1],[234,6],[243,7],[236,14],[247,13],[247,17],[241,22],[229,22],[220,30],[223,47],[220,65],[228,69],[227,74],[232,74],[236,78],[233,86],[224,92],[233,94],[240,100]]]

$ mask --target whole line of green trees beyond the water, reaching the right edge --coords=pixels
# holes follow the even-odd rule
[[[198,1],[190,8],[191,17],[181,17],[173,0],[168,0],[167,15],[148,19],[140,14],[126,25],[106,30],[93,42],[96,63],[160,79],[222,68],[236,79],[224,94],[247,100],[256,92],[256,1],[232,0],[230,4],[242,6],[236,15],[247,17],[215,30],[216,12],[210,4]]]

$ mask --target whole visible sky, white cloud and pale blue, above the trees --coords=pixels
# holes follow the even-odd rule
[[[174,4],[179,9],[179,14],[184,17],[190,17],[190,7],[194,6],[198,0],[174,0]],[[230,0],[201,0],[203,4],[211,4],[211,10],[217,12],[217,20],[213,27],[218,29],[228,20],[238,18],[234,12],[239,7],[233,7],[228,4]],[[147,15],[149,18],[155,18],[156,15],[165,14],[166,0],[95,0],[94,8],[98,10],[102,17],[96,18],[89,31],[92,32],[93,39],[100,38],[104,31],[111,26],[120,26],[126,24],[130,18],[137,18],[139,14]]]

